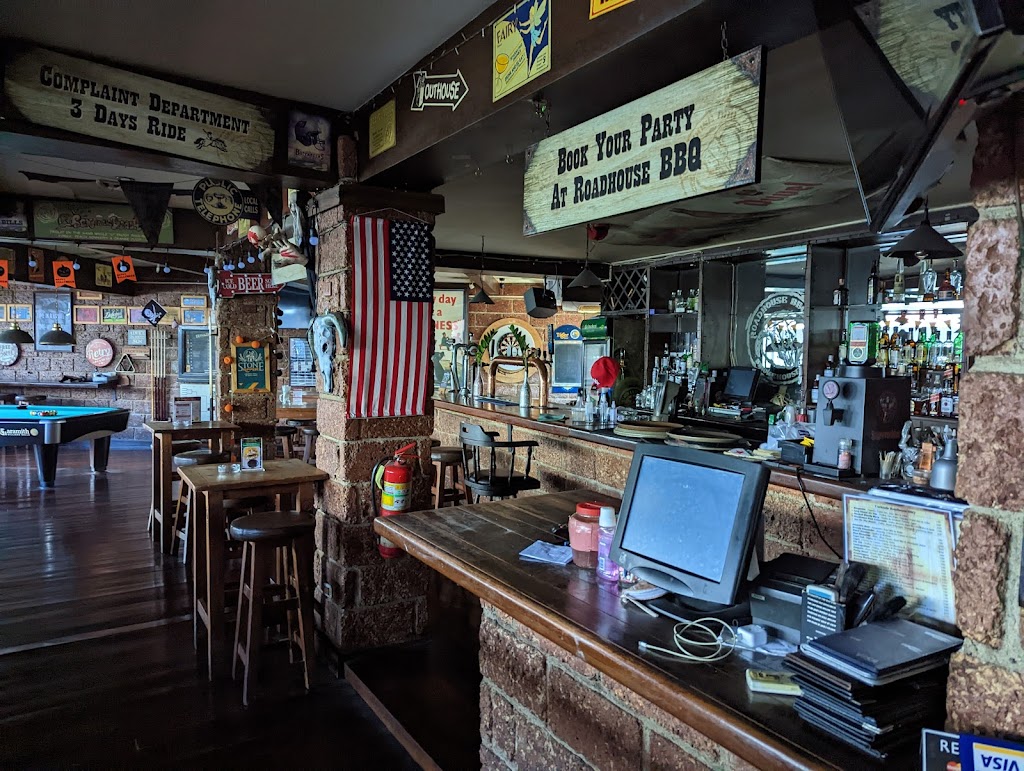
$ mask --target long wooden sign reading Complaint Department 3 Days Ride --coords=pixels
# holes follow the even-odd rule
[[[217,166],[255,171],[273,155],[273,129],[252,104],[45,48],[13,55],[4,95],[40,126]]]

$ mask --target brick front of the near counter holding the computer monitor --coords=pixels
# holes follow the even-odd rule
[[[486,603],[480,673],[484,771],[753,768]]]

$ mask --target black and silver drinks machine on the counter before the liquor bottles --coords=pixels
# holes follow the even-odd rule
[[[818,385],[814,454],[805,468],[833,477],[878,476],[879,453],[899,448],[909,418],[910,378],[885,377],[876,367],[840,367]],[[850,471],[839,469],[842,439],[852,440]]]

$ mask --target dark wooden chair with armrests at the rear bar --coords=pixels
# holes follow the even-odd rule
[[[459,436],[464,483],[478,498],[494,501],[540,489],[541,480],[529,475],[536,441],[499,441],[497,434],[471,423],[462,424]]]

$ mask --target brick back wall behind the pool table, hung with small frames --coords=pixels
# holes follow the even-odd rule
[[[33,304],[33,295],[36,292],[53,291],[52,287],[29,284],[11,284],[9,289],[0,290],[0,304]],[[156,299],[166,308],[177,308],[181,304],[181,295],[203,295],[206,294],[206,286],[195,285],[166,285],[159,292],[152,295],[140,295],[129,297],[126,295],[116,295],[104,293],[100,300],[79,300],[75,295],[72,299],[72,307],[83,305],[99,307],[101,305],[124,305],[141,306],[151,299]],[[7,326],[6,323],[3,324]],[[23,325],[30,333],[35,334],[34,324]],[[150,420],[153,414],[153,405],[150,396],[150,375],[151,359],[147,356],[131,353],[132,362],[135,365],[135,374],[123,376],[127,380],[127,385],[120,386],[117,390],[117,398],[112,389],[81,390],[59,387],[19,387],[18,381],[59,381],[65,375],[87,376],[97,372],[85,358],[85,346],[97,337],[110,340],[114,346],[114,360],[109,367],[100,368],[103,372],[113,370],[124,353],[127,344],[128,330],[144,329],[147,332],[150,345],[153,345],[154,328],[150,325],[126,326],[126,325],[102,325],[102,324],[75,324],[75,347],[70,352],[59,351],[37,351],[34,344],[22,346],[22,354],[10,367],[0,368],[0,393],[16,391],[17,393],[28,393],[31,395],[46,395],[48,400],[55,404],[82,404],[89,406],[115,406],[122,410],[130,410],[132,415],[128,420],[128,429],[117,434],[115,439],[132,439],[137,441],[150,441],[150,434],[142,424]],[[177,345],[178,337],[176,328],[161,326],[156,328],[162,334],[167,335],[167,360],[168,389],[171,396],[177,394],[177,377],[174,371],[177,368]]]

